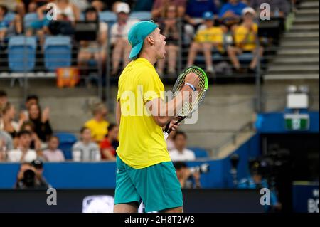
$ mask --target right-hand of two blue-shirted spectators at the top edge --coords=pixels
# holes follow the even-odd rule
[[[240,0],[229,0],[220,9],[219,19],[228,27],[240,22],[242,10],[247,7]]]

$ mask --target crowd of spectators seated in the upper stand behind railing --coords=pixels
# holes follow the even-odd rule
[[[130,46],[127,33],[138,19],[130,18],[132,11],[150,11],[151,17],[159,23],[166,36],[167,58],[160,60],[156,68],[159,75],[176,75],[178,53],[181,43],[190,48],[186,65],[194,63],[198,52],[205,57],[206,70],[213,73],[214,51],[228,58],[233,69],[244,71],[237,56],[241,53],[253,53],[252,62],[247,70],[255,70],[258,56],[262,56],[263,48],[257,42],[258,24],[261,4],[270,4],[270,15],[285,18],[294,0],[260,1],[260,0],[135,0],[135,1],[101,1],[101,0],[0,0],[0,45],[7,34],[38,36],[43,45],[46,35],[70,35],[76,21],[99,21],[97,41],[80,41],[78,66],[85,68],[90,60],[96,60],[105,69],[107,58],[111,59],[111,75],[119,75],[119,71],[129,62]],[[56,6],[57,19],[50,21],[45,13],[48,4]],[[6,19],[9,11],[13,11],[14,19]],[[117,15],[115,23],[100,21],[99,14],[113,11]],[[24,16],[28,13],[38,14],[38,21],[23,26]],[[83,18],[81,18],[83,17]],[[109,36],[108,36],[109,35]],[[232,37],[225,41],[225,36]],[[108,39],[110,38],[110,42]],[[107,53],[107,43],[111,45]],[[167,67],[165,66],[167,63]],[[165,70],[166,68],[166,70]],[[165,73],[166,72],[166,73]]]

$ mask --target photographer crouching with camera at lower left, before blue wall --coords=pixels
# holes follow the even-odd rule
[[[48,189],[50,186],[42,176],[43,164],[39,160],[31,164],[24,162],[18,171],[15,189]]]

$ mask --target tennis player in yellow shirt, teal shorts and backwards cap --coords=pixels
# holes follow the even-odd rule
[[[141,21],[132,26],[128,39],[132,61],[120,75],[117,94],[119,147],[114,212],[137,212],[141,201],[146,212],[182,212],[181,186],[166,149],[163,128],[171,122],[170,127],[176,130],[177,107],[190,98],[188,93],[196,91],[199,79],[194,73],[186,75],[181,90],[184,93],[164,102],[164,85],[154,64],[166,56],[166,37],[153,21]],[[134,102],[129,102],[130,94]],[[137,115],[139,104],[150,114]]]

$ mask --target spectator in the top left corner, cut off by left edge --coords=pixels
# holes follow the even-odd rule
[[[13,21],[6,19],[8,8],[5,5],[0,4],[0,44],[4,41],[7,33],[10,30],[14,30],[14,33],[22,33],[21,16],[16,15]],[[11,29],[12,28],[12,29]]]

